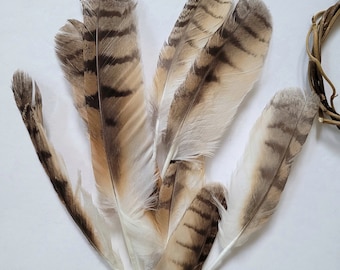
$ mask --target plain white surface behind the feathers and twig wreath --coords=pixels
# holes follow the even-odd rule
[[[332,0],[264,0],[274,32],[255,91],[211,162],[208,178],[227,181],[243,152],[249,129],[273,94],[307,89],[305,36],[314,13]],[[158,52],[185,0],[139,0],[141,47],[150,83]],[[20,68],[39,83],[49,135],[73,179],[89,168],[84,142],[75,134],[68,85],[54,53],[54,35],[69,18],[81,19],[77,0],[12,0],[0,9],[0,269],[108,269],[59,202],[32,147],[10,89]],[[339,24],[337,24],[339,26]],[[323,63],[340,87],[340,32],[323,48]],[[337,102],[340,108],[340,102]],[[340,131],[315,121],[294,163],[279,207],[255,239],[230,256],[224,269],[340,269]],[[85,154],[84,154],[85,153]],[[70,157],[70,158],[67,158]],[[88,170],[88,169],[87,169]]]

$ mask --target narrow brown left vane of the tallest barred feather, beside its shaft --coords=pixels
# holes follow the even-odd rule
[[[100,193],[101,201],[100,207],[105,212],[112,212],[108,210],[107,201],[114,201],[113,186],[111,182],[108,161],[104,148],[103,128],[101,124],[101,116],[99,111],[99,98],[97,86],[97,70],[96,70],[96,20],[94,18],[95,1],[83,1],[83,17],[84,17],[84,31],[82,32],[82,48],[83,48],[83,63],[84,63],[84,88],[83,95],[85,99],[85,108],[87,113],[87,126],[89,139],[91,144],[92,167]],[[105,203],[103,203],[103,201]],[[111,208],[113,208],[111,206]]]

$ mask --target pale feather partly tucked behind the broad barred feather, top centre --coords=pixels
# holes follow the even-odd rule
[[[149,111],[157,133],[166,124],[174,91],[184,81],[208,38],[228,16],[231,4],[232,1],[218,0],[188,0],[185,4],[163,45],[154,76]]]

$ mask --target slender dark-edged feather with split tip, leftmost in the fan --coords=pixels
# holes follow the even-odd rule
[[[13,75],[12,90],[38,158],[59,199],[91,245],[103,257],[116,257],[117,254],[112,251],[112,248],[105,245],[103,239],[98,236],[99,231],[94,226],[92,217],[81,206],[79,198],[72,191],[63,161],[47,139],[42,118],[41,94],[38,86],[33,84],[28,75],[17,71]]]

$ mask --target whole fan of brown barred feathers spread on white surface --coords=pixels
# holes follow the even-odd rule
[[[143,82],[136,2],[82,5],[83,22],[60,29],[56,51],[88,130],[98,200],[72,189],[47,138],[40,90],[18,71],[15,101],[42,166],[112,269],[217,269],[275,210],[318,99],[299,89],[277,93],[230,186],[207,183],[205,159],[264,65],[272,32],[265,5],[188,0],[161,50],[151,91]],[[117,234],[129,262],[112,241]],[[213,245],[217,256],[209,256]]]

